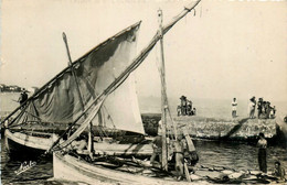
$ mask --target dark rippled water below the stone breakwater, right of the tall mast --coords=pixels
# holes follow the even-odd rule
[[[258,170],[257,148],[255,144],[238,142],[194,141],[201,165],[225,166],[235,170]],[[287,150],[268,146],[267,167],[273,171],[274,162],[279,160],[287,166]]]

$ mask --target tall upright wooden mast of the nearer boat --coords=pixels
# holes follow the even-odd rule
[[[158,10],[159,33],[160,33],[160,79],[161,79],[161,133],[162,133],[162,161],[161,167],[168,171],[168,148],[167,148],[167,101],[166,101],[166,67],[163,55],[163,30],[162,30],[162,10]]]

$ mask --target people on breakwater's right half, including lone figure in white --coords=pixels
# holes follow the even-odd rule
[[[248,104],[248,117],[251,119],[255,118],[255,110],[257,105],[257,118],[258,119],[274,119],[276,113],[275,106],[270,106],[269,101],[264,101],[263,98],[259,98],[256,102],[255,97],[249,99]],[[237,100],[233,98],[232,100],[232,117],[235,118],[236,116],[236,108],[237,108]]]

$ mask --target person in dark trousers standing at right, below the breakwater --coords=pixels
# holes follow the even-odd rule
[[[264,173],[267,173],[267,162],[266,162],[266,148],[267,148],[267,140],[265,139],[264,133],[259,133],[259,140],[257,142],[258,149],[258,163],[259,170]]]

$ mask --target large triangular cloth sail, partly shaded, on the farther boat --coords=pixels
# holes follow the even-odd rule
[[[130,65],[136,54],[139,25],[140,23],[136,23],[108,39],[74,62],[72,67],[56,75],[30,98],[24,112],[22,110],[22,116],[14,122],[18,124],[22,122],[74,122],[83,112],[81,99],[84,108],[89,106],[97,95],[103,94],[108,85]],[[81,96],[76,88],[77,84]],[[102,119],[93,119],[94,124],[102,123],[113,129],[145,133],[132,77],[125,80],[107,97],[99,112]],[[88,113],[92,112],[87,111]],[[84,120],[82,119],[78,123]]]

